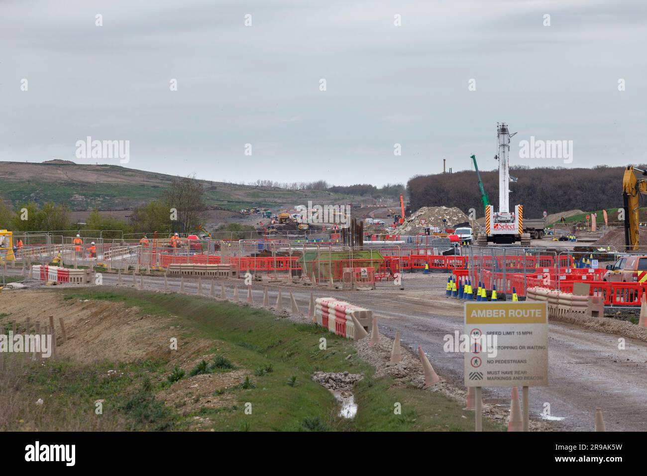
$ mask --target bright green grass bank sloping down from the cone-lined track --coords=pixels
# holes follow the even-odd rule
[[[312,326],[296,324],[255,308],[217,302],[206,297],[160,294],[135,289],[60,289],[65,299],[96,299],[137,306],[140,313],[169,318],[185,337],[214,339],[214,357],[204,359],[186,375],[169,361],[120,364],[124,376],[111,384],[113,409],[127,429],[186,429],[195,416],[209,418],[217,431],[472,431],[474,413],[441,394],[421,391],[395,380],[373,378],[374,369],[355,354],[353,343]],[[327,339],[320,350],[319,339]],[[180,337],[180,342],[182,338]],[[346,359],[348,355],[353,358]],[[154,365],[153,365],[154,364]],[[126,367],[124,367],[126,366]],[[215,397],[234,397],[226,407],[204,407],[184,412],[160,406],[156,392],[179,385],[191,375],[244,369],[238,385],[216,389]],[[353,420],[338,416],[334,396],[311,379],[316,370],[364,374],[356,385],[358,414]],[[93,374],[96,368],[87,368]],[[123,380],[123,381],[122,381]],[[74,391],[88,399],[104,398],[96,391],[96,378],[69,375],[63,385],[47,384],[52,394],[74,398]],[[105,394],[105,392],[104,392]],[[197,398],[197,396],[194,396]],[[63,398],[63,397],[61,397]],[[198,400],[193,400],[197,402]],[[191,402],[187,402],[191,403]],[[397,405],[396,405],[397,404]],[[400,411],[397,411],[399,405]],[[86,405],[87,406],[87,405]],[[246,413],[251,409],[251,414]],[[177,409],[179,412],[180,409]],[[463,418],[463,417],[466,418]],[[488,420],[484,429],[502,430]]]

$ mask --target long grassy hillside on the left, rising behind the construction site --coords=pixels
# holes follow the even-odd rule
[[[14,204],[65,203],[72,210],[126,210],[158,199],[175,177],[117,165],[74,163],[0,163],[0,197]],[[353,197],[331,192],[293,191],[217,181],[201,181],[211,207],[294,207],[308,199],[340,203]]]

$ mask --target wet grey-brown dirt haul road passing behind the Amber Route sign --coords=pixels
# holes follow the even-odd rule
[[[16,270],[17,271],[17,270]],[[422,346],[435,370],[456,387],[463,386],[463,355],[443,352],[443,337],[463,330],[463,305],[443,297],[443,275],[405,275],[405,291],[382,285],[375,291],[338,291],[314,289],[315,297],[333,296],[372,309],[379,317],[380,331],[393,337],[400,330],[402,344],[413,350]],[[115,284],[116,276],[104,274],[104,284]],[[132,285],[132,277],[122,277]],[[139,277],[137,277],[139,282]],[[425,283],[426,286],[407,286]],[[144,277],[146,288],[161,289],[160,277]],[[171,290],[179,289],[179,279],[169,278]],[[234,284],[241,300],[246,293],[241,280],[219,280],[228,296]],[[267,284],[267,283],[263,283]],[[431,285],[435,287],[431,287]],[[261,302],[263,285],[254,283],[254,301]],[[268,284],[270,302],[276,301],[278,284]],[[440,286],[439,286],[440,285]],[[195,293],[197,282],[184,280],[185,292]],[[287,288],[287,286],[285,286]],[[302,312],[307,311],[311,287],[290,287]],[[203,293],[209,293],[203,282]],[[283,306],[289,308],[289,294],[283,294]],[[549,324],[549,387],[531,388],[531,418],[539,418],[549,403],[556,430],[591,431],[595,407],[602,407],[608,431],[644,431],[647,429],[647,343],[626,338],[626,349],[618,349],[618,337],[587,330],[567,323]],[[509,406],[510,389],[484,389],[486,403]]]

